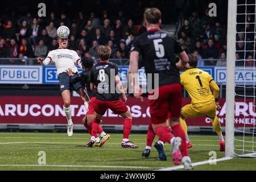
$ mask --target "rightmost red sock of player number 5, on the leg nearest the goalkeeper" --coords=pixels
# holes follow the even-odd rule
[[[186,143],[186,137],[185,137],[185,132],[181,125],[175,125],[172,127],[172,131],[174,133],[175,137],[180,137],[181,138],[181,146],[180,146],[180,151],[182,156],[188,156],[188,149],[187,149],[187,143]]]

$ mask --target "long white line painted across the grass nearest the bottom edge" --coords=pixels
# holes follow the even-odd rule
[[[130,168],[130,169],[151,169],[159,167],[146,166],[82,166],[82,165],[39,165],[39,164],[0,164],[0,167],[77,167],[77,168]]]

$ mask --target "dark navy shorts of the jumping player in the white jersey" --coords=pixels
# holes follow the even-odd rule
[[[79,77],[79,75],[77,73],[75,73],[74,75],[75,77]],[[80,89],[80,88],[84,88],[84,85],[82,84],[82,82],[76,82],[75,84],[71,83],[71,79],[68,76],[68,73],[60,73],[59,76],[59,81],[60,81],[60,92],[63,92],[64,90],[76,90],[76,92]]]

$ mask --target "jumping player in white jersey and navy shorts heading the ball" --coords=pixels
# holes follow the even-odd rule
[[[64,111],[68,120],[68,136],[73,135],[73,122],[71,119],[71,89],[76,90],[84,101],[85,108],[88,110],[89,98],[84,92],[84,86],[82,82],[77,82],[76,84],[71,84],[71,80],[67,74],[67,70],[70,68],[74,75],[79,76],[79,71],[75,64],[80,65],[80,57],[77,55],[76,51],[67,49],[68,38],[59,38],[59,48],[48,53],[47,58],[44,60],[38,57],[38,63],[48,65],[55,63],[57,68],[57,75],[60,81],[60,92],[64,101]],[[80,65],[81,67],[81,65]]]

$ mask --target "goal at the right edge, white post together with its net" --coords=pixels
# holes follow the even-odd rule
[[[256,0],[229,0],[227,157],[256,158],[255,21]]]

